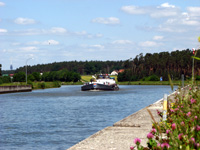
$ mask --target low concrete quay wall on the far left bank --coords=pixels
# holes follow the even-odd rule
[[[31,85],[0,86],[0,94],[30,91],[32,91]]]

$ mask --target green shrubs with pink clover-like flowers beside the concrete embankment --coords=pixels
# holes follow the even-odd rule
[[[179,94],[178,94],[179,93]],[[190,87],[187,93],[177,92],[169,100],[167,120],[153,123],[147,134],[147,147],[135,140],[138,150],[200,150],[200,90]],[[162,112],[158,115],[162,117]],[[130,149],[134,149],[131,147]]]

